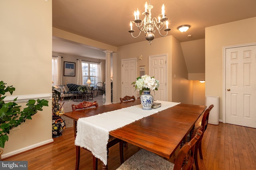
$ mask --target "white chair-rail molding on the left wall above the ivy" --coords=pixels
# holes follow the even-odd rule
[[[4,102],[13,102],[13,100],[17,98],[16,103],[23,103],[28,102],[28,100],[37,100],[37,99],[45,99],[45,100],[51,100],[52,94],[46,93],[46,94],[28,94],[28,95],[20,95],[20,96],[6,96],[4,98]]]

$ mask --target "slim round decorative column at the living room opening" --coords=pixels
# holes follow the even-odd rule
[[[112,104],[111,102],[111,72],[110,72],[110,54],[113,51],[104,51],[106,53],[106,89],[105,89],[105,95],[106,95],[106,102],[104,105]]]

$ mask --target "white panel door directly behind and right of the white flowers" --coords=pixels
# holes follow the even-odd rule
[[[167,55],[155,55],[149,57],[149,76],[154,76],[156,80],[159,80],[159,88],[158,90],[151,92],[154,100],[162,100],[167,101],[167,90],[166,90],[166,80],[167,80],[167,66],[166,59]]]

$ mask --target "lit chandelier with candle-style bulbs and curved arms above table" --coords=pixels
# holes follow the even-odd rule
[[[139,28],[140,33],[142,31],[144,31],[144,33],[146,34],[146,40],[149,41],[149,45],[151,45],[151,41],[155,38],[154,33],[156,32],[156,30],[159,32],[159,34],[162,37],[165,37],[168,34],[168,31],[170,31],[171,29],[168,28],[168,18],[166,18],[166,15],[164,14],[164,4],[162,5],[162,14],[158,15],[158,19],[151,18],[151,10],[152,10],[153,6],[150,4],[150,0],[149,0],[149,5],[146,2],[145,3],[145,12],[142,13],[142,15],[144,16],[143,21],[140,20],[139,16],[140,16],[140,12],[137,9],[137,12],[134,11],[134,20],[130,21],[130,30],[129,33],[133,33],[134,30],[132,29],[132,24],[135,23],[136,27]],[[166,29],[164,29],[166,25]],[[164,29],[164,31],[166,31],[166,35],[162,35],[160,33],[160,31]],[[137,38],[140,36],[140,33],[138,36],[134,36],[132,34],[132,37]]]

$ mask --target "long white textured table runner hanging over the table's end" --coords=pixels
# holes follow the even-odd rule
[[[161,103],[161,107],[143,110],[140,104],[78,119],[75,145],[90,150],[106,165],[110,131],[179,104],[166,101],[154,102]]]

